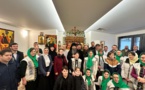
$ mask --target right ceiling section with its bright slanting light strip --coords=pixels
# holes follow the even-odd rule
[[[145,0],[123,0],[87,30],[119,34],[145,29]]]

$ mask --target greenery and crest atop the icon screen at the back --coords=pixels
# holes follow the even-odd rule
[[[76,27],[74,27],[70,31],[66,31],[66,36],[84,37],[84,31],[78,30]]]

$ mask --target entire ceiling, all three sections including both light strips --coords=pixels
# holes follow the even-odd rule
[[[33,30],[76,26],[118,34],[145,29],[144,10],[145,0],[0,0],[0,22]]]

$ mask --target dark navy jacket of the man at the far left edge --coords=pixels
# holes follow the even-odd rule
[[[17,90],[17,67],[14,61],[8,65],[0,62],[0,90]]]

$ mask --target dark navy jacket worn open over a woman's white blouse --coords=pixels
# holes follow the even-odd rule
[[[47,72],[50,72],[51,69],[52,69],[52,58],[50,55],[48,55],[48,58],[50,59],[50,64],[49,64],[49,69],[47,70],[46,68],[46,65],[45,65],[45,60],[44,60],[44,57],[41,55],[39,58],[38,58],[38,69],[39,69],[39,74],[40,75],[44,75],[46,76],[46,73]]]

